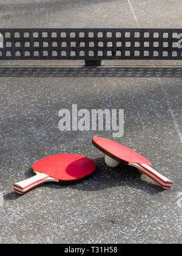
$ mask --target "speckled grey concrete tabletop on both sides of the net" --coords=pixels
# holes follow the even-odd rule
[[[180,27],[177,2],[1,1],[0,20],[1,27]],[[181,243],[180,66],[162,66],[156,75],[153,64],[12,63],[0,63],[0,243]],[[61,132],[58,112],[72,104],[123,108],[117,141],[149,158],[173,187],[163,190],[127,166],[108,168],[91,141],[112,138],[112,131]],[[95,160],[95,176],[71,186],[47,183],[23,196],[13,191],[14,182],[32,176],[35,160],[66,152]]]

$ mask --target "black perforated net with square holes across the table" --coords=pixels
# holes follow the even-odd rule
[[[180,34],[182,29],[0,29],[0,60],[181,60]]]

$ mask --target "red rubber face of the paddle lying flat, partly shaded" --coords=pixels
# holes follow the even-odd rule
[[[95,171],[96,164],[82,155],[57,154],[41,158],[32,168],[57,180],[76,180]]]

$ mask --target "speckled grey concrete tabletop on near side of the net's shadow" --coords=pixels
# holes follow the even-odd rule
[[[180,86],[173,78],[2,77],[2,243],[180,243],[181,141],[169,111],[181,127]],[[91,141],[112,131],[60,132],[58,112],[72,104],[123,108],[117,141],[144,154],[174,186],[166,191],[133,168],[108,168]],[[66,152],[95,160],[95,176],[13,192],[13,182],[32,176],[35,160]]]

